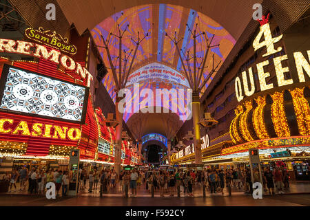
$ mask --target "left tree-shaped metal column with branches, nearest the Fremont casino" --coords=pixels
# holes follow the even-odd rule
[[[148,33],[145,34],[143,39],[140,39],[139,32],[138,32],[137,41],[134,41],[133,39],[131,39],[132,41],[134,41],[134,43],[136,43],[136,48],[134,50],[134,54],[133,54],[132,60],[130,62],[130,67],[127,69],[127,62],[128,62],[128,59],[130,58],[132,50],[126,56],[125,50],[124,51],[122,50],[122,46],[123,46],[122,45],[122,39],[123,39],[123,35],[125,34],[129,25],[126,26],[126,28],[125,28],[125,30],[123,30],[123,32],[121,32],[121,28],[119,27],[119,25],[117,25],[117,26],[118,26],[118,35],[110,33],[107,40],[105,40],[102,35],[101,35],[101,38],[103,39],[103,43],[105,45],[104,48],[107,52],[107,58],[109,59],[110,69],[112,70],[113,80],[114,80],[114,84],[115,84],[115,89],[114,89],[114,91],[116,92],[115,114],[116,114],[116,121],[118,122],[118,125],[116,126],[114,168],[116,170],[116,173],[119,174],[121,172],[121,142],[122,142],[122,128],[123,128],[123,112],[120,112],[118,110],[118,104],[120,103],[120,101],[122,100],[123,97],[118,97],[118,91],[125,88],[128,76],[130,75],[130,71],[132,70],[132,65],[134,63],[134,58],[136,57],[136,52],[138,50],[138,46],[141,44],[143,39],[145,39],[145,37],[148,36]],[[111,35],[115,36],[118,39],[118,43],[119,43],[119,54],[118,54],[118,57],[116,58],[115,65],[112,62],[112,58],[111,58],[111,54],[110,54],[110,50],[109,50],[109,43],[110,43],[110,36]],[[123,56],[122,52],[124,52],[124,58],[122,58],[122,56]],[[125,61],[123,66],[122,66],[122,60]],[[118,71],[119,71],[118,76],[116,73],[117,61],[118,61]],[[123,73],[122,73],[122,68],[123,68]]]

